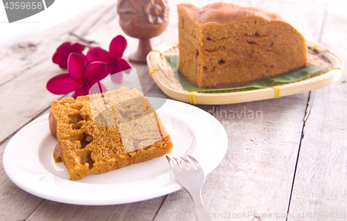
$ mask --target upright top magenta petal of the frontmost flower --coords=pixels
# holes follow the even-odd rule
[[[69,74],[77,81],[83,81],[83,74],[87,67],[87,60],[81,53],[71,53],[67,59],[67,69]]]

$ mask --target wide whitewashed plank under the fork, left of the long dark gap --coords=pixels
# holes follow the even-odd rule
[[[313,8],[312,2],[246,3],[284,13],[298,23],[304,35],[319,40],[316,34],[323,23],[324,3],[314,3]],[[288,211],[308,94],[245,104],[198,106],[214,113],[228,133],[226,157],[206,177],[202,193],[205,205],[217,220],[266,220],[269,214],[285,220],[281,215]],[[238,118],[237,113],[242,111],[261,111],[262,117],[248,118],[247,114]],[[194,220],[192,199],[185,190],[168,195],[155,220]]]

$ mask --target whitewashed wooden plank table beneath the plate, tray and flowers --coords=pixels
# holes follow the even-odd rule
[[[177,39],[175,5],[183,2],[204,6],[213,1],[169,0],[170,24],[154,39],[155,44]],[[305,38],[323,44],[346,61],[346,5],[322,1],[230,2],[289,17]],[[185,190],[133,204],[76,206],[35,197],[6,176],[2,155],[9,140],[23,126],[48,113],[53,99],[62,97],[48,92],[46,82],[63,73],[51,57],[62,42],[76,40],[69,31],[101,42],[104,49],[116,35],[126,36],[119,27],[117,2],[105,1],[0,51],[0,220],[194,220],[192,199]],[[137,40],[126,38],[125,58],[137,47]],[[133,66],[145,94],[162,94],[146,65]],[[285,220],[287,213],[288,220],[347,219],[346,79],[345,74],[325,88],[278,99],[196,105],[213,113],[228,134],[226,156],[206,177],[202,193],[216,220],[272,220],[276,216]],[[262,115],[233,119],[218,115],[223,111],[261,111]],[[233,123],[239,126],[228,126]],[[252,126],[242,128],[242,124]]]

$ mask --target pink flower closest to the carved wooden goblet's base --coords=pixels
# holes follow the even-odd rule
[[[110,43],[110,50],[106,51],[100,47],[93,47],[87,53],[88,62],[101,61],[107,63],[106,72],[111,74],[111,79],[115,83],[123,81],[123,71],[131,69],[127,60],[121,58],[126,49],[126,39],[118,35]],[[128,74],[128,72],[126,72]]]

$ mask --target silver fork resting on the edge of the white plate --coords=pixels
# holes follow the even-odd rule
[[[192,163],[185,158],[178,160],[174,158],[174,163],[169,156],[167,161],[169,161],[171,170],[174,173],[174,176],[178,183],[187,190],[189,195],[192,197],[195,205],[195,215],[196,219],[200,220],[212,220],[208,218],[208,211],[203,205],[203,199],[201,198],[201,189],[203,188],[203,183],[205,182],[205,175],[203,174],[203,169],[201,168],[200,163],[190,155],[188,157]],[[204,218],[203,218],[204,215]]]

